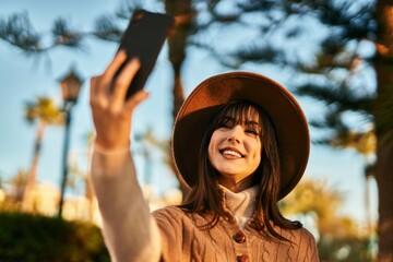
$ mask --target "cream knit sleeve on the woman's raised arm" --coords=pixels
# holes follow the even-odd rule
[[[138,184],[131,153],[95,150],[92,180],[111,261],[159,261],[159,230]]]

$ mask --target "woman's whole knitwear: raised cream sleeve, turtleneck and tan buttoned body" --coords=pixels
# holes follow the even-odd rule
[[[305,228],[275,230],[291,242],[267,240],[252,219],[257,188],[225,190],[225,216],[202,229],[209,215],[168,206],[153,212],[138,186],[130,153],[95,151],[92,178],[103,215],[103,233],[112,261],[319,261],[315,241]],[[251,217],[251,218],[249,218]]]

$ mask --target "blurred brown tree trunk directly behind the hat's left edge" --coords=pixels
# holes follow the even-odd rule
[[[192,9],[191,0],[166,0],[165,9],[168,14],[175,16],[176,21],[176,28],[168,36],[169,60],[174,69],[172,119],[175,120],[181,105],[184,102],[184,88],[181,82],[180,71],[186,58],[187,40],[194,19],[194,11]],[[170,150],[170,146],[168,147]],[[171,155],[170,152],[169,155]],[[178,174],[171,157],[170,166],[179,181],[181,192],[183,193],[183,196],[186,196],[189,191],[189,187]]]

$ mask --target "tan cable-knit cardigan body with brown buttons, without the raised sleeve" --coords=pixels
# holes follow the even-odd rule
[[[198,227],[206,217],[178,207],[155,211],[153,216],[162,235],[163,261],[319,261],[315,240],[305,228],[278,229],[290,243],[267,240],[254,224],[241,229],[231,215],[210,230]]]

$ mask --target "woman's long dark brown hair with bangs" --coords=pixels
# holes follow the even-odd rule
[[[213,218],[204,225],[205,228],[212,228],[218,223],[219,217],[224,215],[223,195],[217,187],[219,174],[209,159],[207,148],[213,132],[228,117],[238,124],[245,122],[250,116],[254,116],[254,114],[259,116],[262,127],[259,134],[262,143],[261,163],[253,174],[254,184],[260,186],[260,193],[255,201],[257,219],[266,222],[264,224],[270,236],[287,240],[276,233],[269,222],[272,221],[274,225],[286,229],[300,228],[302,225],[299,222],[286,219],[278,210],[279,156],[274,126],[267,114],[250,102],[235,100],[228,103],[211,120],[200,148],[198,182],[191,189],[184,204],[180,205],[180,207],[191,213],[212,214]],[[267,235],[267,237],[270,236]]]

